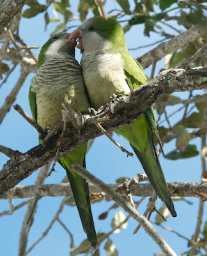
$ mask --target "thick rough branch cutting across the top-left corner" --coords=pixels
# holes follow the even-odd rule
[[[27,0],[8,0],[0,6],[0,35]]]

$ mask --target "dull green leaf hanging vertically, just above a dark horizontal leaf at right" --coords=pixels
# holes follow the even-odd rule
[[[176,125],[176,132],[178,134],[176,147],[180,150],[180,152],[184,152],[190,141],[190,134],[183,125]]]

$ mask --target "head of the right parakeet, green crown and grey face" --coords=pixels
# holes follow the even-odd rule
[[[126,49],[123,29],[117,20],[94,17],[86,20],[78,29],[75,29],[69,39],[78,39],[77,48],[86,52],[98,51],[105,47],[110,49]]]

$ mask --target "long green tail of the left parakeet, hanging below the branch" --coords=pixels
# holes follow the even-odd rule
[[[76,148],[72,153],[66,155],[66,157],[61,157],[59,161],[63,168],[65,168],[70,186],[73,191],[73,196],[75,198],[75,203],[79,211],[79,215],[82,222],[82,227],[84,232],[88,237],[88,241],[93,248],[97,246],[97,237],[95,225],[93,222],[93,215],[91,212],[91,204],[89,200],[89,189],[88,183],[84,178],[82,178],[77,173],[70,170],[70,166],[73,163],[85,165],[85,154],[86,154],[87,143],[84,143],[80,147]]]

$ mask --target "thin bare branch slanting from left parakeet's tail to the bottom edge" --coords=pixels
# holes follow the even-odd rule
[[[79,175],[84,177],[85,179],[89,180],[92,184],[98,186],[106,195],[108,195],[112,200],[114,200],[118,205],[123,207],[125,211],[127,211],[135,220],[137,220],[146,233],[148,233],[152,239],[157,243],[157,245],[160,247],[163,253],[165,253],[167,256],[176,256],[176,253],[169,247],[169,245],[162,239],[162,237],[158,234],[158,232],[153,228],[150,221],[146,220],[142,214],[140,214],[132,205],[128,204],[128,202],[121,198],[116,192],[114,192],[107,184],[102,182],[102,180],[97,179],[95,176],[91,175],[86,169],[82,168],[82,166],[79,166],[78,164],[72,165],[72,170],[74,172],[77,172]]]

